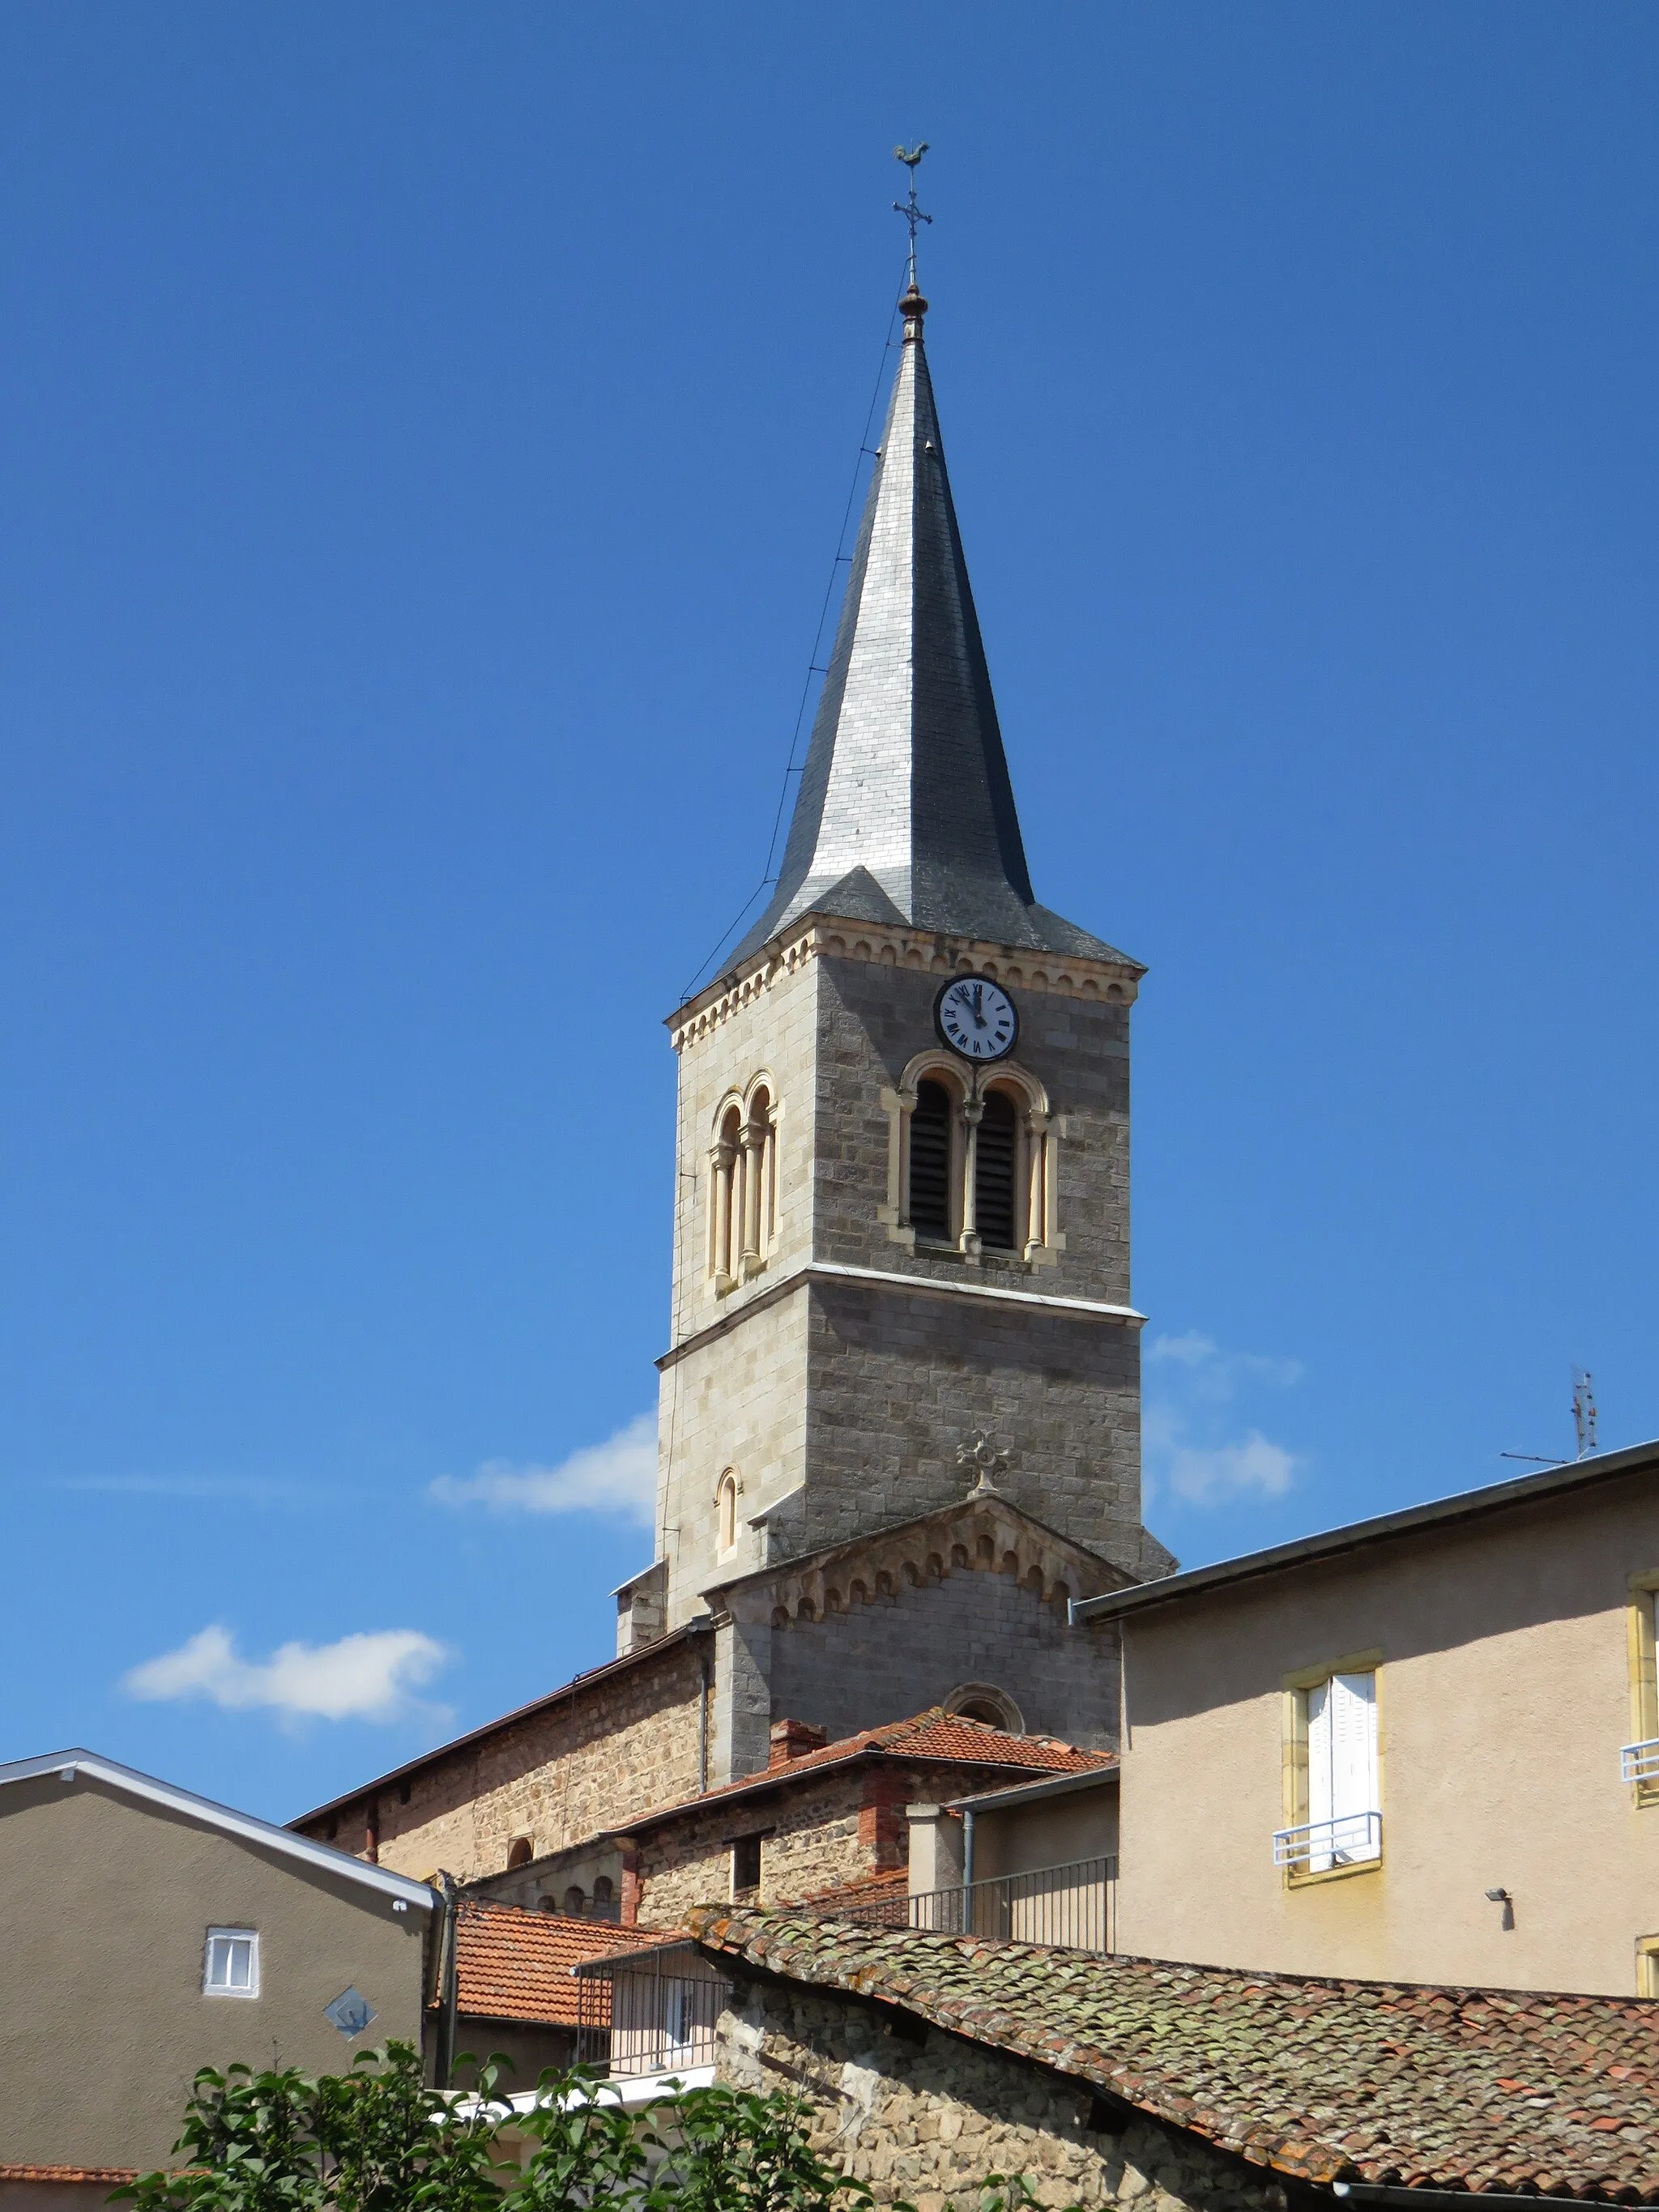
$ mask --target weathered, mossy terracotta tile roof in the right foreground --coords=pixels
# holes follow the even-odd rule
[[[1659,2201],[1659,2004],[1091,1958],[787,1913],[703,1944],[885,1997],[1303,2181]]]

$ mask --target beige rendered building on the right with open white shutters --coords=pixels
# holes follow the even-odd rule
[[[1641,1444],[1082,1599],[1117,1949],[1659,1995],[1655,1590]]]

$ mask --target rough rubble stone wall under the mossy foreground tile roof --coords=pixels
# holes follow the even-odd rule
[[[721,2015],[719,2077],[792,2088],[814,2148],[878,2205],[964,2212],[991,2174],[1024,2174],[1037,2203],[1135,2212],[1283,2212],[1285,2190],[1199,2137],[1166,2128],[1026,2059],[922,2022],[900,2039],[880,2006],[790,1982],[741,1980]]]

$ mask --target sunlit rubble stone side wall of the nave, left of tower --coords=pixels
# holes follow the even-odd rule
[[[471,1882],[507,1867],[515,1836],[540,1858],[695,1796],[703,1650],[701,1639],[646,1650],[478,1743],[436,1752],[409,1776],[407,1803],[396,1783],[376,1801],[380,1865]],[[334,1838],[327,1823],[305,1834],[361,1854],[365,1825],[347,1809]]]

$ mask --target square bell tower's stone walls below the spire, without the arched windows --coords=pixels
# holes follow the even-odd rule
[[[659,1537],[668,1621],[717,1575],[845,1542],[962,1495],[958,1447],[1009,1451],[1006,1491],[1037,1520],[1135,1575],[1168,1571],[1139,1524],[1139,1343],[1133,1323],[1035,1303],[878,1285],[779,1285],[852,1265],[1040,1298],[1126,1305],[1128,980],[995,956],[1020,1006],[1018,1068],[1048,1099],[1055,1239],[1042,1265],[916,1250],[889,1214],[889,1115],[907,1064],[936,1048],[933,995],[967,947],[816,931],[770,973],[679,1022],[675,1358],[661,1376]],[[989,960],[989,947],[971,958]],[[1113,1000],[1108,993],[1117,991]],[[779,1108],[776,1237],[765,1267],[717,1296],[710,1170],[721,1099],[765,1075]],[[712,1332],[712,1334],[710,1334]],[[743,1484],[721,1559],[714,1491]],[[781,1500],[768,1533],[748,1522]]]

